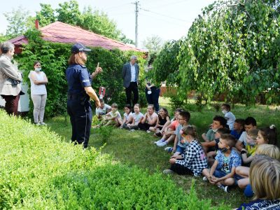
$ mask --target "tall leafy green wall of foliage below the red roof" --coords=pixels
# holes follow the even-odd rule
[[[41,62],[42,71],[48,76],[48,99],[45,106],[45,117],[52,117],[66,114],[67,83],[65,71],[67,62],[71,55],[71,45],[65,43],[52,43],[41,38],[40,31],[29,30],[25,34],[29,43],[22,46],[22,53],[15,55],[19,69],[24,70],[24,80],[30,86],[28,78],[29,71],[33,70],[34,61]],[[104,48],[91,48],[87,55],[87,69],[90,73],[99,66],[104,70],[93,80],[93,88],[98,93],[99,87],[106,87],[105,102],[112,104],[116,102],[120,107],[125,105],[125,88],[123,87],[122,69],[123,64],[129,62],[131,55],[137,55],[140,66],[140,87],[139,102],[146,105],[144,94],[144,64],[143,52],[121,51],[118,49],[106,50]],[[30,92],[29,92],[30,93]],[[33,111],[33,104],[30,103],[30,113]]]

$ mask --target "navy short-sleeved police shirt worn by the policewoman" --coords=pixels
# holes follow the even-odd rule
[[[69,94],[80,94],[85,91],[84,87],[92,85],[92,76],[87,67],[73,64],[66,69],[66,80],[68,82]]]

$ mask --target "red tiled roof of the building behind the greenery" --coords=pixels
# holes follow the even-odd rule
[[[55,43],[82,43],[87,47],[101,47],[107,50],[118,48],[124,51],[134,50],[144,52],[144,50],[139,48],[135,48],[125,43],[121,43],[120,41],[116,41],[63,22],[53,22],[39,30],[41,31],[42,38],[45,41]],[[11,39],[10,42],[14,45],[22,45],[22,43],[28,43],[28,40],[25,36],[18,36]]]

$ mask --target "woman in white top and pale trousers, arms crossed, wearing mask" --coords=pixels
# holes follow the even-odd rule
[[[45,102],[47,101],[47,89],[45,84],[48,83],[48,78],[41,71],[41,63],[34,62],[34,71],[30,71],[29,79],[31,83],[31,99],[34,104],[34,123],[36,125],[46,125],[43,123],[45,114]]]

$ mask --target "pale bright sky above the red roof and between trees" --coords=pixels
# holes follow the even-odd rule
[[[30,15],[40,10],[40,3],[48,3],[52,8],[58,8],[58,3],[66,0],[9,0],[1,2],[0,33],[6,33],[8,22],[3,13],[11,12],[22,6],[29,10]],[[78,0],[80,10],[85,6],[103,10],[111,20],[114,20],[118,29],[123,31],[127,38],[135,40],[135,1],[137,0]],[[178,40],[186,36],[192,22],[200,15],[202,8],[213,3],[214,0],[138,0],[138,42],[143,48],[143,41],[147,37],[158,35],[164,41]]]

